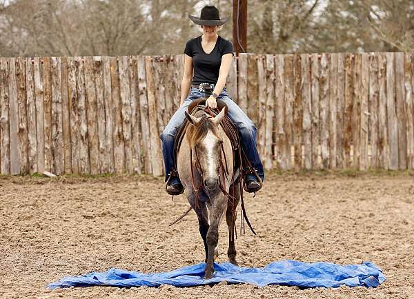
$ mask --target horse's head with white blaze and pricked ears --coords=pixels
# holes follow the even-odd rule
[[[193,150],[193,159],[203,180],[206,191],[213,192],[219,187],[219,171],[221,166],[221,146],[223,141],[219,134],[219,123],[224,117],[221,110],[215,117],[204,112],[195,116],[186,112],[186,118],[191,124],[188,131],[188,141]]]

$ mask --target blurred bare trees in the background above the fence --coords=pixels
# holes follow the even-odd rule
[[[233,0],[0,0],[0,56],[181,54],[206,3],[233,12]],[[248,52],[413,48],[413,0],[248,1]]]

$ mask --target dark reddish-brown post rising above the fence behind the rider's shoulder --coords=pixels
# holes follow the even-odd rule
[[[233,0],[233,45],[236,54],[247,52],[247,0]]]

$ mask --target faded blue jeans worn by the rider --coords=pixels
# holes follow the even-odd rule
[[[204,92],[200,92],[197,88],[191,88],[188,98],[184,101],[183,105],[178,108],[175,114],[170,119],[170,122],[164,128],[161,133],[162,141],[162,154],[164,156],[164,165],[166,167],[166,180],[174,165],[174,137],[177,133],[177,129],[184,122],[186,118],[184,112],[188,110],[188,105],[198,98],[208,97]],[[248,161],[257,170],[257,174],[264,181],[264,170],[262,161],[260,161],[259,153],[257,152],[256,134],[257,129],[253,121],[243,112],[243,110],[230,98],[226,92],[226,88],[219,94],[219,99],[224,101],[228,107],[228,117],[235,123],[239,130],[240,141],[244,147],[244,152]]]

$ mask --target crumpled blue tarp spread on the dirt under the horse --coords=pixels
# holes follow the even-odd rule
[[[90,287],[105,285],[113,287],[159,287],[173,285],[175,287],[194,287],[198,285],[214,285],[226,280],[228,283],[249,283],[264,287],[265,285],[289,285],[301,288],[310,287],[377,287],[385,281],[382,270],[372,262],[361,265],[335,265],[331,262],[299,262],[297,260],[281,260],[272,262],[264,268],[237,267],[230,262],[215,264],[214,277],[204,280],[202,262],[180,269],[143,274],[135,271],[109,269],[106,272],[92,272],[84,276],[66,276],[58,282],[52,282],[48,288],[57,287]]]

